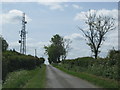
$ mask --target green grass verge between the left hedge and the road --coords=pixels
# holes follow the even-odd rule
[[[34,70],[11,72],[3,84],[3,88],[44,88],[46,66]]]

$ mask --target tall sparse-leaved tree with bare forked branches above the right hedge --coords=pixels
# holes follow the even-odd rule
[[[101,47],[103,41],[105,41],[106,33],[114,30],[114,21],[112,17],[97,15],[97,12],[92,12],[91,10],[86,15],[86,24],[88,25],[88,30],[81,29],[78,27],[88,40],[88,45],[91,51],[94,53],[94,57],[97,59],[100,53],[99,48]]]

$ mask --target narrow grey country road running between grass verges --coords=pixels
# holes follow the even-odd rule
[[[51,65],[47,65],[46,74],[46,88],[97,88],[91,83],[68,75]]]

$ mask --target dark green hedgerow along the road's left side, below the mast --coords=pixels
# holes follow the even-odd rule
[[[16,70],[31,70],[44,63],[44,58],[23,55],[16,51],[5,51],[2,57],[2,79],[5,80],[9,72]]]

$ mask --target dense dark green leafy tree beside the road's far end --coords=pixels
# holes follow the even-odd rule
[[[60,62],[60,56],[63,55],[64,48],[63,38],[58,34],[54,35],[50,41],[52,44],[50,46],[45,46],[45,51],[49,56],[49,62],[58,63]]]

